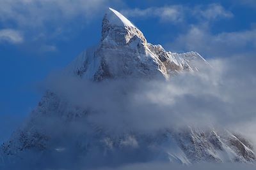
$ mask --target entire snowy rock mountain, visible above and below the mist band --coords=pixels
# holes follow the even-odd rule
[[[196,52],[166,52],[161,45],[147,43],[137,27],[109,8],[102,22],[99,45],[81,53],[65,73],[99,83],[118,78],[163,77],[168,80],[180,71],[199,71],[201,64],[209,65]],[[79,108],[47,91],[24,126],[1,147],[1,164],[22,161],[28,154],[40,155],[29,157],[31,160],[40,160],[45,155],[69,155],[76,161],[83,158],[81,161],[94,167],[148,160],[182,164],[255,162],[250,143],[228,131],[184,127],[112,135],[90,124],[86,119],[90,114],[89,108]],[[73,133],[76,128],[79,129],[77,134]]]

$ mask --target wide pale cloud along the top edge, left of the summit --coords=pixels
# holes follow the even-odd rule
[[[90,20],[111,0],[2,0],[0,21],[19,26],[42,27],[46,22],[65,22],[79,17]]]

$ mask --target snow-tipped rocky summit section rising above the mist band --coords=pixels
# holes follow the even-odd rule
[[[166,52],[161,45],[147,43],[137,27],[110,9],[102,22],[100,44],[83,52],[69,69],[94,81],[156,75],[168,79],[179,71],[198,71],[196,62],[207,64],[196,52]]]

